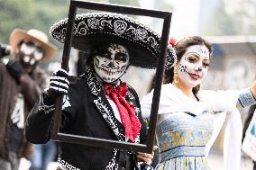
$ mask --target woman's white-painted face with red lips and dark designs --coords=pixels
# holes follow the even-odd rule
[[[210,54],[206,46],[188,47],[178,63],[179,80],[189,87],[201,84],[208,71],[209,58]]]

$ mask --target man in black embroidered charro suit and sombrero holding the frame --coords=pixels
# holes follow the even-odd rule
[[[64,42],[66,26],[67,19],[55,23],[50,28],[53,38]],[[121,76],[130,65],[156,67],[160,36],[142,23],[116,13],[78,14],[75,27],[72,46],[87,54],[85,73],[68,76],[60,69],[51,76],[50,87],[41,94],[28,116],[27,139],[32,143],[50,139],[54,103],[59,94],[65,94],[60,132],[145,142],[146,126],[138,95]],[[169,60],[174,60],[170,47],[168,52]],[[169,67],[171,64],[173,62]],[[115,148],[59,142],[59,169],[62,170],[151,169],[152,158],[153,153],[135,154]],[[136,159],[144,163],[136,166]]]

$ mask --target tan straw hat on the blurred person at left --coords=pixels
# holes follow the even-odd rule
[[[22,29],[14,29],[10,35],[10,45],[13,47],[14,51],[17,50],[18,45],[23,40],[32,40],[41,44],[41,47],[44,51],[43,60],[47,60],[57,52],[57,47],[51,44],[48,40],[48,37],[45,33],[39,30],[31,29],[25,31]]]

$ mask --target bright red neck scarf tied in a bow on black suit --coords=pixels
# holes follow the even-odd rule
[[[109,95],[109,98],[114,101],[118,108],[125,129],[125,136],[134,142],[142,129],[142,123],[135,115],[133,103],[128,103],[124,98],[128,92],[127,85],[121,83],[117,87],[114,87],[111,84],[105,84],[104,88],[105,93]]]

